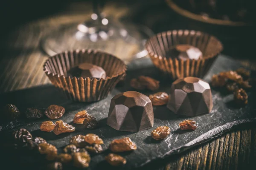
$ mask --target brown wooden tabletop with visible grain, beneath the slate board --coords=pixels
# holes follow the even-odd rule
[[[42,71],[42,65],[49,56],[40,47],[41,38],[64,24],[82,22],[90,14],[89,9],[91,7],[87,4],[73,3],[66,9],[66,14],[27,23],[15,28],[6,39],[1,40],[4,55],[0,58],[0,93],[49,83]],[[114,14],[116,18],[127,11],[127,8],[120,6],[117,10],[113,4],[105,8],[107,14]],[[121,44],[114,49],[106,46],[95,48],[122,56],[124,52],[129,54],[133,47],[123,48]],[[166,165],[156,167],[166,170],[234,170],[248,167],[253,161],[256,161],[255,126],[235,129],[207,144],[168,158]]]

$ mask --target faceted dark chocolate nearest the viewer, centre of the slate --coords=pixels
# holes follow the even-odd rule
[[[107,125],[120,131],[140,132],[153,124],[153,106],[148,96],[126,91],[112,98]]]

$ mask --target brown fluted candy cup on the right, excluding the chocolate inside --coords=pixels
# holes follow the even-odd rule
[[[166,53],[174,45],[189,44],[199,48],[203,53],[202,59],[172,59]],[[204,77],[223,45],[214,36],[201,31],[172,30],[154,35],[145,44],[154,65],[161,71],[171,75],[173,79],[183,77]]]

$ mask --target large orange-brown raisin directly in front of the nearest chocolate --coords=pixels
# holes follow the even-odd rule
[[[137,146],[134,142],[131,141],[130,138],[125,137],[122,139],[114,139],[110,145],[109,149],[112,152],[125,152],[130,150],[136,150]]]

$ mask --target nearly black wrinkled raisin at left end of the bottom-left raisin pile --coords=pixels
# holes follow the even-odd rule
[[[23,128],[16,130],[12,135],[14,136],[15,143],[20,146],[26,145],[32,139],[31,133]]]

